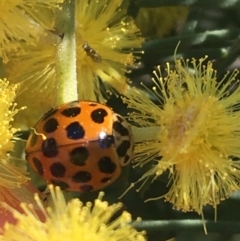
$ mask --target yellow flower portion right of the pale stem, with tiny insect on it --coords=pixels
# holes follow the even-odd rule
[[[100,95],[97,77],[120,93],[127,88],[126,67],[133,65],[131,51],[141,48],[143,38],[126,15],[122,0],[77,0],[77,74],[79,98]],[[88,84],[86,84],[88,83]]]

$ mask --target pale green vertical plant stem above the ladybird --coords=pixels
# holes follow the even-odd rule
[[[57,104],[78,99],[76,71],[75,0],[67,0],[57,14],[56,29],[63,39],[56,50]]]

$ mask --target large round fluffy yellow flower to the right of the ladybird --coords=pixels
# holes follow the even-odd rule
[[[150,94],[131,89],[125,102],[137,110],[131,120],[145,127],[159,127],[151,140],[137,143],[137,166],[153,162],[142,179],[157,179],[169,171],[169,191],[164,195],[176,209],[214,208],[240,188],[240,88],[237,71],[217,81],[206,58],[191,63],[176,61],[167,77],[155,72]],[[155,160],[154,160],[155,159]],[[158,199],[159,197],[153,198]]]

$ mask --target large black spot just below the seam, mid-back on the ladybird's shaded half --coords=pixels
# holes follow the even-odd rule
[[[84,166],[88,157],[88,149],[83,146],[76,147],[70,152],[70,161],[78,166]]]

